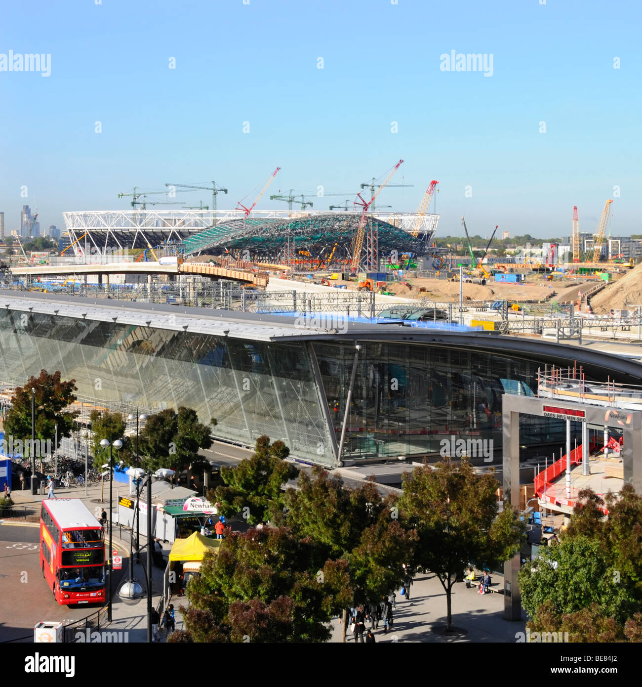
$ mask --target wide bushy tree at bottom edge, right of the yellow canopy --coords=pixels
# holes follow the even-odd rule
[[[314,543],[288,528],[227,537],[187,585],[183,620],[195,642],[325,642],[336,589],[311,572]]]

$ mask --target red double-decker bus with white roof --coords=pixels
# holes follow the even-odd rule
[[[40,563],[58,603],[105,601],[103,528],[80,499],[43,501]]]

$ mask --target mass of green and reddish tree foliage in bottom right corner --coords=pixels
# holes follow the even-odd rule
[[[642,499],[630,484],[605,500],[580,491],[571,526],[520,571],[535,631],[567,631],[573,642],[637,641],[642,630]],[[606,508],[605,508],[606,506]],[[604,516],[604,510],[608,516]]]

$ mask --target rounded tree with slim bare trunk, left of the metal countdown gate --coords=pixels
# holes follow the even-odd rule
[[[446,631],[452,631],[452,586],[464,567],[492,569],[519,550],[524,532],[517,513],[497,513],[498,482],[477,475],[468,460],[424,465],[403,475],[399,512],[417,535],[413,563],[435,573],[446,592]]]

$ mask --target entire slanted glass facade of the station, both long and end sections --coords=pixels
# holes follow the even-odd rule
[[[360,343],[344,460],[435,454],[457,436],[493,439],[498,462],[502,396],[534,395],[544,364],[436,343]],[[326,466],[336,460],[354,357],[354,342],[339,339],[268,343],[0,311],[3,381],[60,370],[98,405],[192,407],[203,423],[216,418],[214,436],[253,445],[266,434]],[[542,420],[523,438],[559,429]]]

